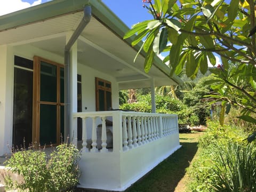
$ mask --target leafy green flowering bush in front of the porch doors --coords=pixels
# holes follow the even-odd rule
[[[35,146],[12,153],[5,162],[6,167],[10,167],[13,173],[21,174],[24,179],[19,183],[5,173],[6,188],[34,192],[68,191],[74,188],[79,180],[78,162],[81,157],[76,146],[62,143],[50,156]]]

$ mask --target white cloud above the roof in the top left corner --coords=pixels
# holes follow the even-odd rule
[[[4,15],[7,13],[11,13],[14,11],[26,9],[30,6],[39,5],[42,3],[42,0],[37,0],[33,4],[29,4],[27,2],[22,2],[21,0],[6,0],[0,1],[0,15]]]

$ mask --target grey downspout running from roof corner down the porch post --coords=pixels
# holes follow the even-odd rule
[[[64,139],[67,139],[69,136],[69,131],[71,130],[70,123],[70,49],[73,44],[76,42],[79,35],[81,35],[82,31],[86,27],[86,25],[90,22],[92,16],[92,9],[90,5],[85,5],[84,7],[84,17],[79,23],[78,27],[74,31],[73,35],[70,37],[68,43],[65,46],[65,70],[64,70],[64,87],[65,87],[65,106],[64,106]],[[72,114],[71,114],[72,115]],[[70,135],[73,137],[73,135]]]

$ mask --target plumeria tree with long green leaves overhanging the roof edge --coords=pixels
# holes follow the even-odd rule
[[[143,0],[152,20],[132,26],[124,38],[132,45],[143,42],[145,71],[154,57],[164,53],[170,76],[185,68],[194,79],[205,74],[209,62],[216,78],[208,81],[222,101],[220,122],[230,106],[242,108],[240,118],[256,123],[256,45],[253,0]],[[139,54],[138,52],[138,54]],[[137,54],[137,55],[138,55]],[[215,56],[221,59],[216,63]]]

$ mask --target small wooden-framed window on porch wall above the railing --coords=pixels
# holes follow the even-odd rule
[[[106,111],[112,108],[111,82],[95,78],[96,89],[96,110]]]

